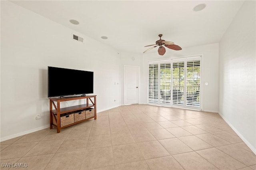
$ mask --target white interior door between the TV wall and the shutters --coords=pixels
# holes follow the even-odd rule
[[[124,105],[139,103],[140,67],[124,66]]]

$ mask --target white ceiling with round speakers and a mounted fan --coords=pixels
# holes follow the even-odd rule
[[[182,48],[217,43],[243,4],[238,0],[206,1],[11,1],[118,51],[142,53],[159,40]],[[206,8],[194,12],[194,6]],[[69,22],[78,20],[79,25]],[[107,40],[101,39],[107,36]],[[85,39],[86,41],[86,39]],[[97,44],[95,44],[97,45]],[[171,50],[171,49],[166,49]],[[156,52],[157,49],[151,50]]]

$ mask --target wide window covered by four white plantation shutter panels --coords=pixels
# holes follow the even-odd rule
[[[201,109],[201,57],[148,62],[148,103]]]

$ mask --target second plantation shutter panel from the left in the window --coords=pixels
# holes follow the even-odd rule
[[[171,63],[160,63],[160,103],[171,103]]]

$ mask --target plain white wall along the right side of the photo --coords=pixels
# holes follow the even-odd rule
[[[255,1],[245,1],[220,41],[219,113],[256,153]]]

